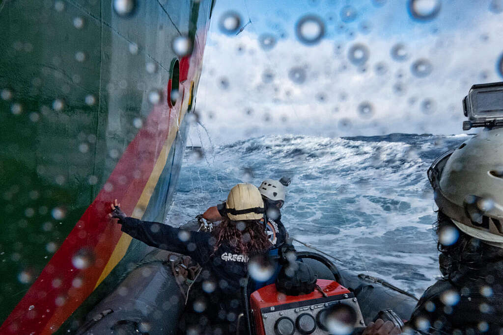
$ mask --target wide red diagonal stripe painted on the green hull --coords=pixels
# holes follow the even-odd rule
[[[167,103],[152,109],[145,126],[126,148],[104,188],[3,323],[0,333],[55,331],[93,292],[122,234],[120,225],[111,224],[106,216],[110,201],[119,199],[121,208],[132,213],[169,134],[169,126],[177,122],[177,114],[173,113],[171,120]],[[77,255],[81,258],[74,259],[72,265],[72,258]],[[92,264],[78,269],[75,261],[92,261]],[[47,324],[49,320],[52,324]]]

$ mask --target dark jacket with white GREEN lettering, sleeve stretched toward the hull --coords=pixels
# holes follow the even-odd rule
[[[201,265],[201,274],[192,285],[180,322],[181,333],[195,328],[211,333],[215,327],[235,333],[239,313],[243,311],[240,283],[246,277],[248,257],[228,244],[214,250],[215,238],[206,232],[188,232],[158,222],[126,217],[119,220],[122,231],[149,246],[190,256]]]

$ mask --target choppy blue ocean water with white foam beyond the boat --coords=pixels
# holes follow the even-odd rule
[[[420,296],[440,276],[433,191],[426,171],[467,135],[265,136],[188,147],[166,223],[179,226],[240,182],[288,176],[290,236]],[[189,141],[190,143],[190,141]],[[298,250],[307,250],[295,244]]]

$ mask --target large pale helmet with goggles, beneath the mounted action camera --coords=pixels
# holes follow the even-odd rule
[[[439,209],[463,233],[503,248],[503,128],[442,155],[428,178]]]

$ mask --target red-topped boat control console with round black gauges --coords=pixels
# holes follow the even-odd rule
[[[354,294],[333,280],[318,279],[320,290],[287,296],[275,284],[250,296],[258,335],[328,334],[333,327],[365,326]],[[322,293],[323,292],[323,293]]]

